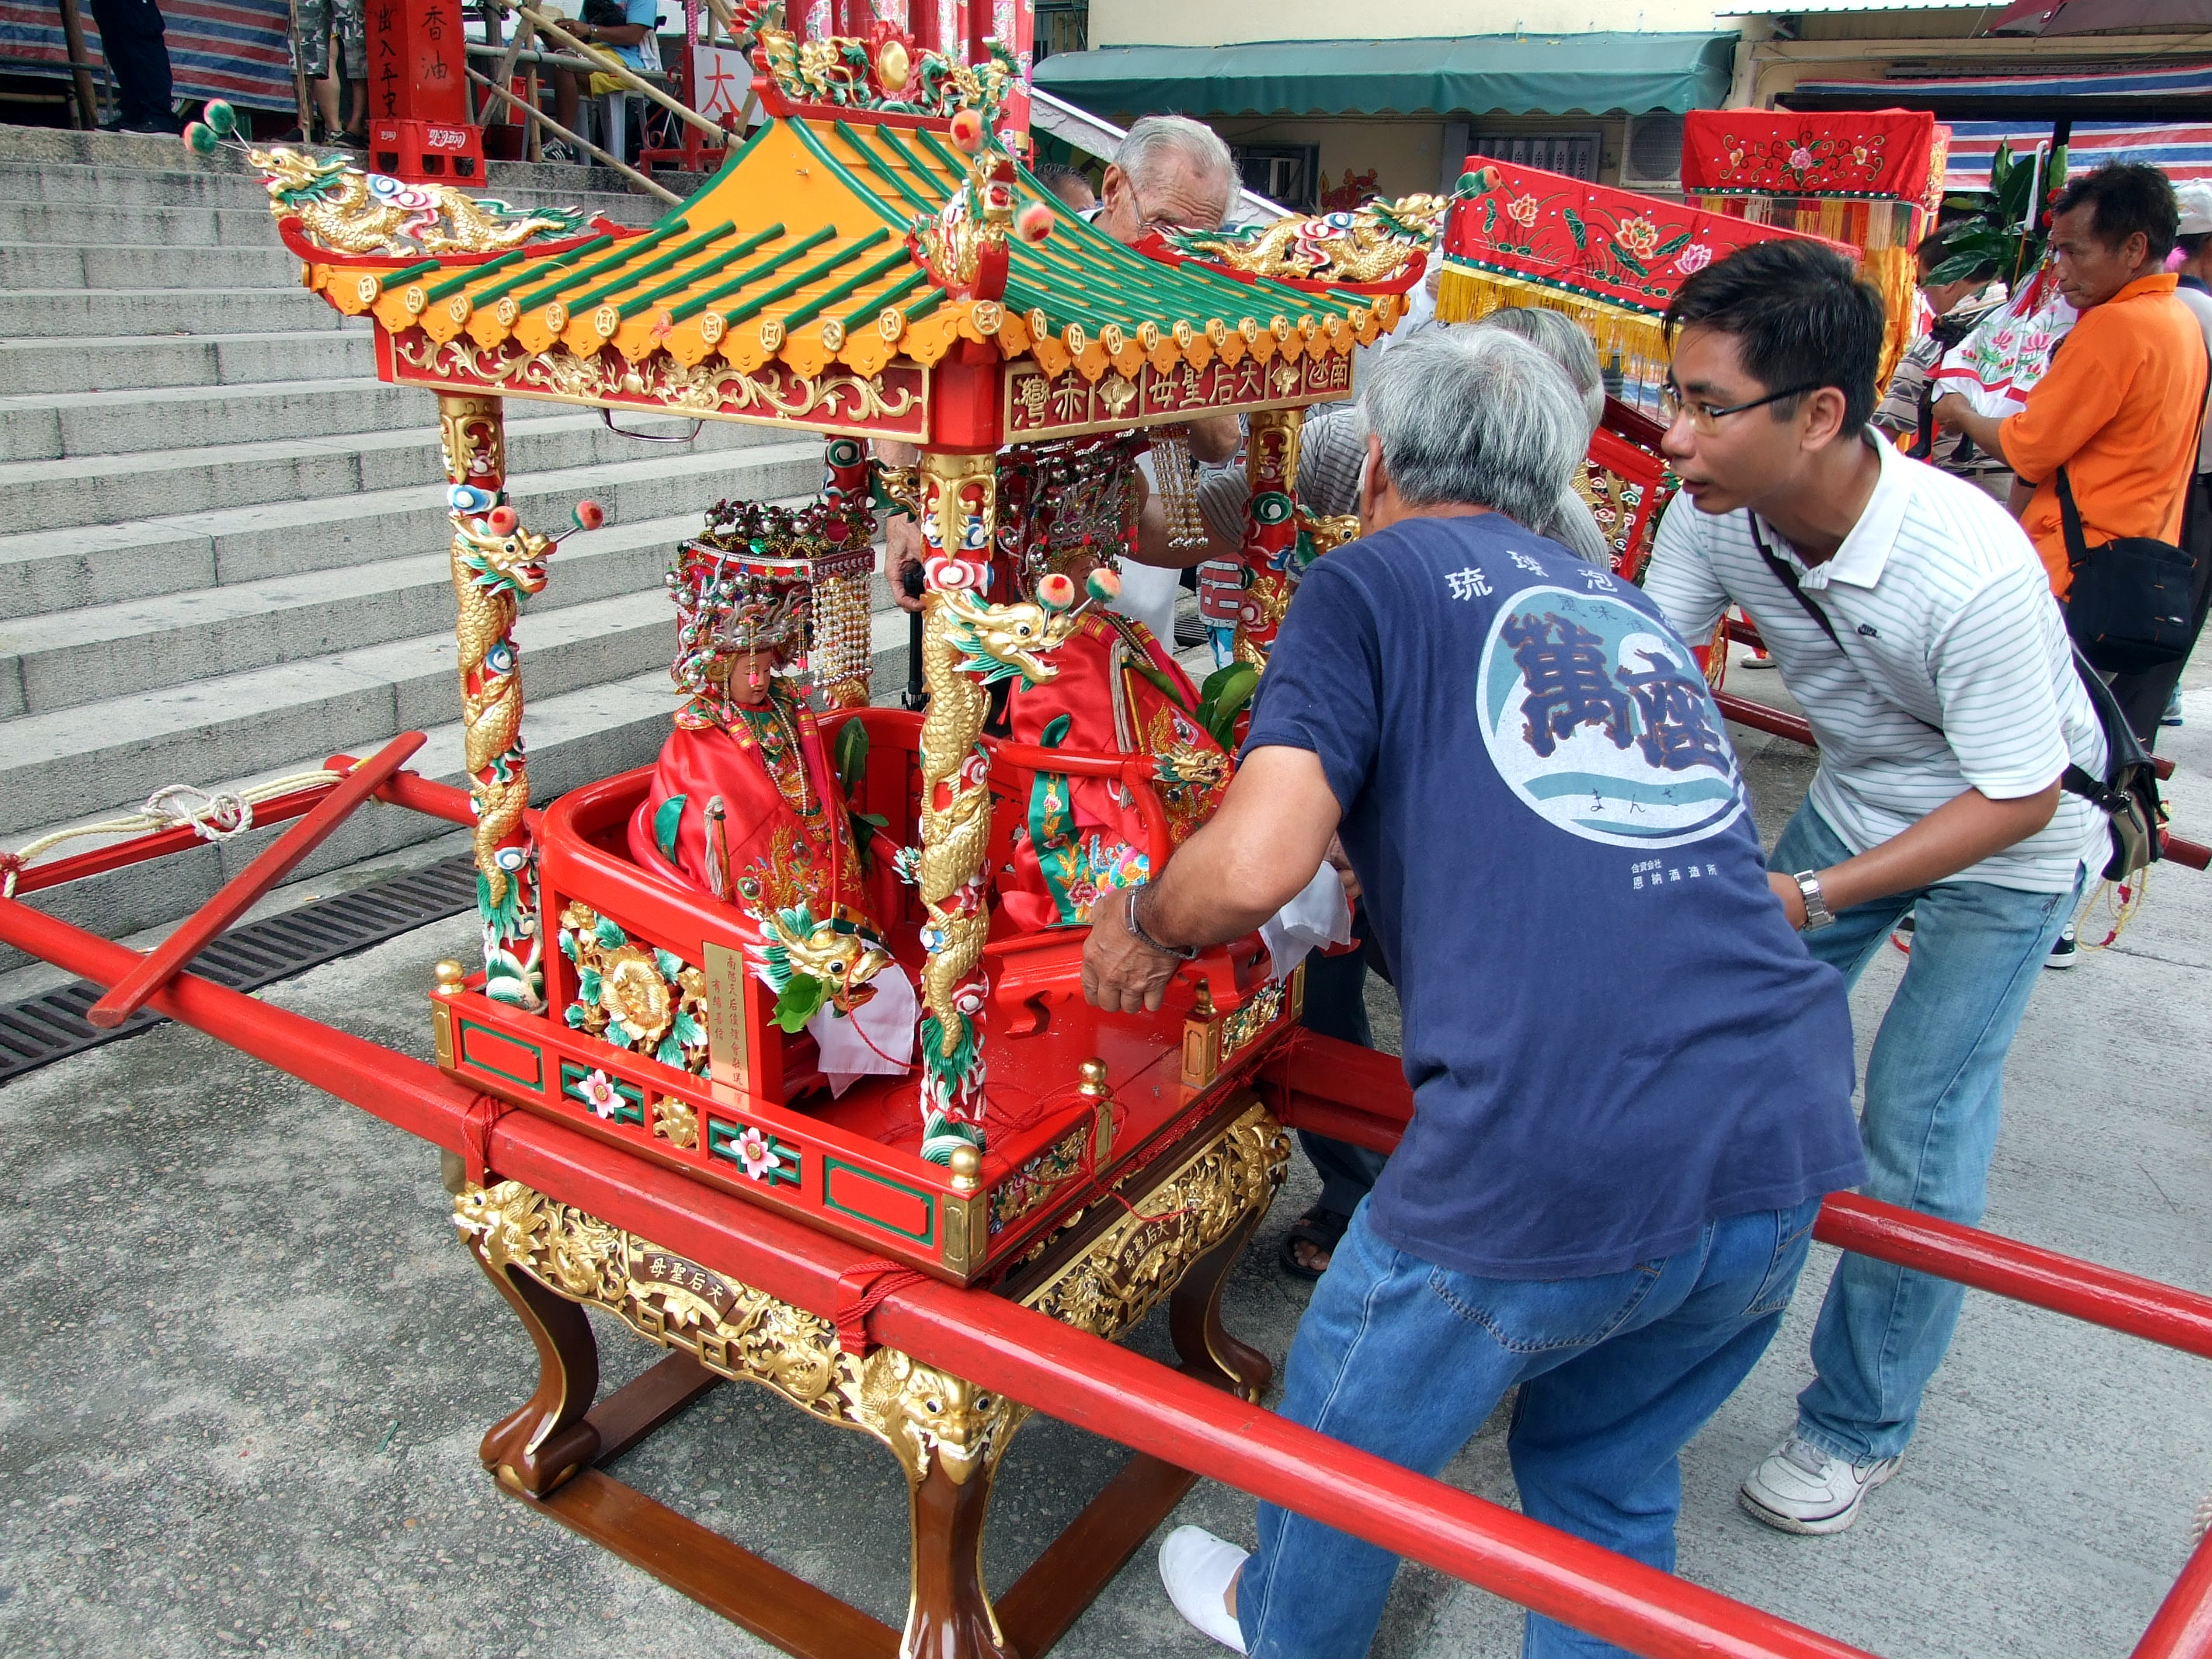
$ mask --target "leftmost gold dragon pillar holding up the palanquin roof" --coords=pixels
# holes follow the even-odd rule
[[[469,787],[476,796],[476,905],[484,925],[484,993],[544,1002],[538,860],[522,825],[531,801],[522,759],[520,602],[546,584],[551,540],[507,504],[500,398],[438,396],[447,507],[453,522],[453,635]]]

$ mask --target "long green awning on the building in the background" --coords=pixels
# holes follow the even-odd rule
[[[1102,46],[1037,86],[1099,115],[1679,115],[1719,108],[1736,35],[1436,35]]]

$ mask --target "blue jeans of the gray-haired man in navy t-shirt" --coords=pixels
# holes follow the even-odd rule
[[[1674,1571],[1677,1453],[1759,1363],[1820,1201],[1712,1221],[1690,1248],[1593,1279],[1478,1279],[1383,1243],[1367,1203],[1290,1345],[1283,1416],[1436,1475],[1515,1383],[1522,1511]],[[1274,1504],[1237,1584],[1259,1659],[1358,1659],[1398,1557]],[[1524,1659],[1619,1655],[1528,1615]]]

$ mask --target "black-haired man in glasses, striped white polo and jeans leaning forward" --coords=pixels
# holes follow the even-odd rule
[[[1688,639],[1743,606],[1805,708],[1820,770],[1767,860],[1807,949],[1854,978],[1911,909],[1911,964],[1867,1062],[1867,1192],[1982,1217],[2013,1031],[2101,845],[2104,734],[2035,546],[1973,484],[1867,418],[1882,301],[1809,243],[1690,276],[1666,456],[1681,478],[1648,595]],[[2099,854],[2101,858],[2101,854]],[[1743,1482],[1790,1533],[1840,1533],[1891,1473],[1964,1292],[1847,1254],[1796,1429]]]

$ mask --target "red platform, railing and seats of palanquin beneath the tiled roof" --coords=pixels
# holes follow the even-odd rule
[[[887,834],[909,843],[920,714],[865,708],[845,719],[869,734],[852,810],[885,818]],[[1040,768],[1121,781],[1150,805],[1148,852],[1164,860],[1166,818],[1150,761],[989,739],[987,748],[993,869],[1009,863]],[[770,1018],[774,993],[745,971],[730,907],[630,860],[624,830],[648,779],[648,770],[626,772],[546,807],[538,830],[542,914],[571,942],[611,927],[604,938],[672,958],[670,995],[697,1006],[706,1064],[670,1066],[573,1029],[564,1020],[580,995],[571,947],[546,951],[542,1011],[484,995],[482,975],[469,989],[440,989],[438,1064],[515,1106],[794,1212],[885,1259],[953,1283],[998,1276],[1071,1210],[1099,1201],[1239,1095],[1279,1033],[1296,1022],[1301,975],[1270,980],[1256,938],[1190,962],[1157,1015],[1106,1015],[1082,1000],[1086,929],[995,927],[984,947],[993,1139],[980,1177],[964,1181],[918,1152],[914,1077],[860,1077],[832,1099],[814,1040],[787,1035]],[[876,922],[905,967],[920,969],[922,911],[914,891],[880,858],[867,887]],[[697,975],[697,989],[686,1002],[688,975]],[[1075,1082],[1086,1077],[1086,1062],[1099,1064],[1095,1082]]]

